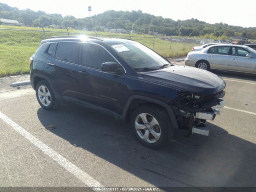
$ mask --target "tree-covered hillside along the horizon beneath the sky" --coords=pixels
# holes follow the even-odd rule
[[[61,14],[47,14],[43,11],[35,12],[30,9],[19,10],[7,4],[0,3],[0,18],[13,19],[22,22],[26,26],[45,27],[52,24],[60,28],[72,27],[78,30],[89,28],[89,18],[75,18],[74,16],[62,17]],[[102,27],[123,28],[134,30],[138,34],[147,34],[154,31],[168,36],[245,36],[256,39],[256,28],[243,28],[240,26],[230,26],[228,24],[209,24],[197,19],[172,20],[162,18],[148,13],[138,11],[114,11],[108,10],[104,13],[91,17],[92,28],[100,31]]]

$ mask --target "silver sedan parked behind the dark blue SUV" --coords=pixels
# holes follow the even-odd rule
[[[189,52],[185,64],[204,70],[256,73],[256,51],[242,45],[212,45],[201,51]]]

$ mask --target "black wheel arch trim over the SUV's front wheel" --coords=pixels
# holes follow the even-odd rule
[[[130,98],[128,98],[128,100],[124,106],[122,116],[124,117],[124,119],[126,121],[129,121],[132,112],[136,108],[138,108],[144,104],[158,106],[158,107],[161,107],[164,110],[166,110],[168,117],[170,118],[172,127],[178,128],[178,124],[176,122],[176,118],[175,118],[174,112],[172,111],[172,108],[165,102],[162,102],[162,101],[154,99],[154,98],[146,97],[146,96],[140,96],[140,95],[130,96]]]

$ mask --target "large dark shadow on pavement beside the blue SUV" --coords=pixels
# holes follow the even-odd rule
[[[43,126],[55,127],[47,131],[155,186],[256,185],[256,145],[210,122],[208,137],[175,130],[172,142],[151,150],[136,140],[130,124],[92,110],[69,104],[37,114]]]

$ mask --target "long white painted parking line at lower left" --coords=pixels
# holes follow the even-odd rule
[[[6,122],[8,125],[10,125],[14,130],[16,130],[18,133],[20,133],[23,137],[25,137],[27,140],[29,140],[32,144],[34,144],[36,147],[38,147],[42,152],[47,154],[50,158],[52,158],[54,161],[56,161],[58,164],[60,164],[62,167],[64,167],[66,170],[68,170],[70,173],[72,173],[76,178],[81,180],[84,184],[90,187],[103,187],[98,181],[96,181],[94,178],[92,178],[90,175],[88,175],[86,172],[83,172],[80,168],[78,168],[76,165],[72,164],[70,161],[68,161],[66,158],[58,154],[56,151],[54,151],[52,148],[44,144],[42,141],[40,141],[38,138],[30,134],[28,131],[26,131],[24,128],[13,122],[10,118],[8,118],[6,115],[4,115],[2,112],[0,112],[0,118]]]

